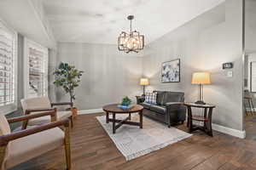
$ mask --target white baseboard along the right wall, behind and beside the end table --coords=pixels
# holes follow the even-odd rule
[[[202,126],[202,122],[193,122],[193,124],[197,124],[197,125],[201,125]],[[225,133],[225,134],[229,134],[231,136],[235,136],[237,138],[241,138],[241,139],[245,139],[246,138],[246,131],[241,131],[241,130],[236,130],[234,128],[230,128],[230,127],[224,127],[215,123],[212,123],[212,129],[216,130],[220,133]]]

